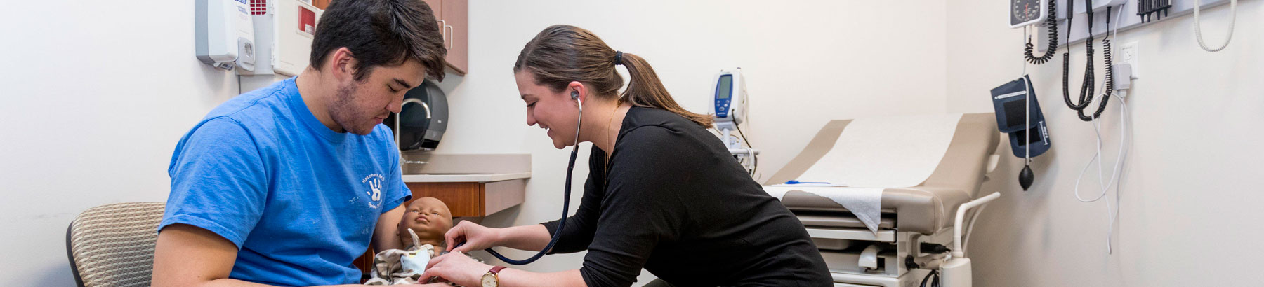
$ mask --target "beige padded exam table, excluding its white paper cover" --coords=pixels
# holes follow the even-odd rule
[[[916,286],[930,269],[939,268],[948,256],[943,249],[953,247],[958,208],[981,198],[985,174],[999,160],[994,155],[1000,135],[995,120],[992,113],[961,115],[947,151],[921,184],[881,189],[881,217],[871,224],[876,227],[867,227],[825,196],[800,190],[781,196],[820,249],[834,286]],[[828,122],[765,185],[795,180],[810,166],[829,164],[818,161],[852,122]]]

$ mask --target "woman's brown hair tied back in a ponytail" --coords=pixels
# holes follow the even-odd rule
[[[632,79],[619,99],[637,107],[670,111],[703,127],[710,127],[714,117],[681,108],[667,88],[659,81],[650,63],[638,55],[617,52],[602,38],[583,28],[552,25],[545,28],[518,53],[513,72],[528,70],[536,84],[561,92],[570,82],[589,84],[597,94],[616,94],[623,87],[623,77],[614,69],[622,64]]]

